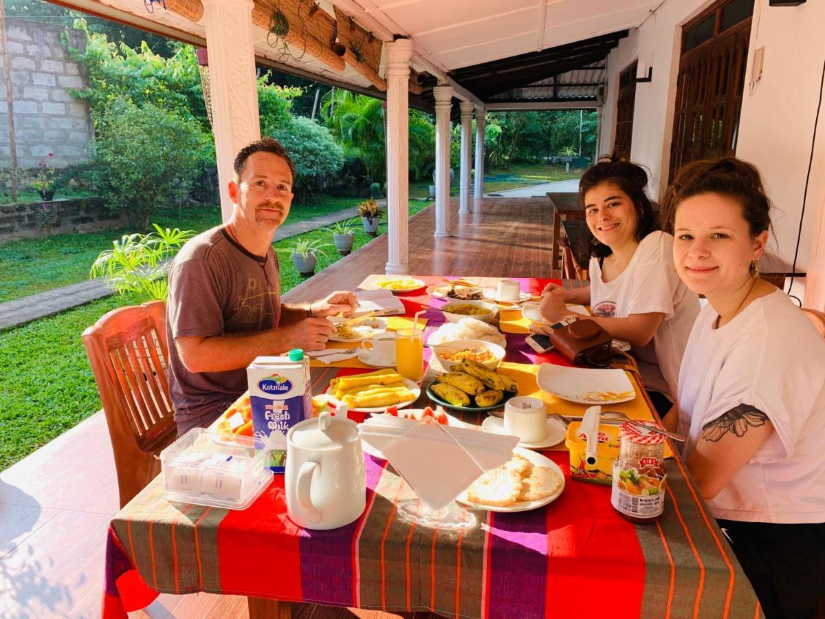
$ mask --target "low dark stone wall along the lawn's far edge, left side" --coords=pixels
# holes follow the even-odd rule
[[[98,197],[0,206],[0,243],[125,225],[122,216],[112,215]]]

